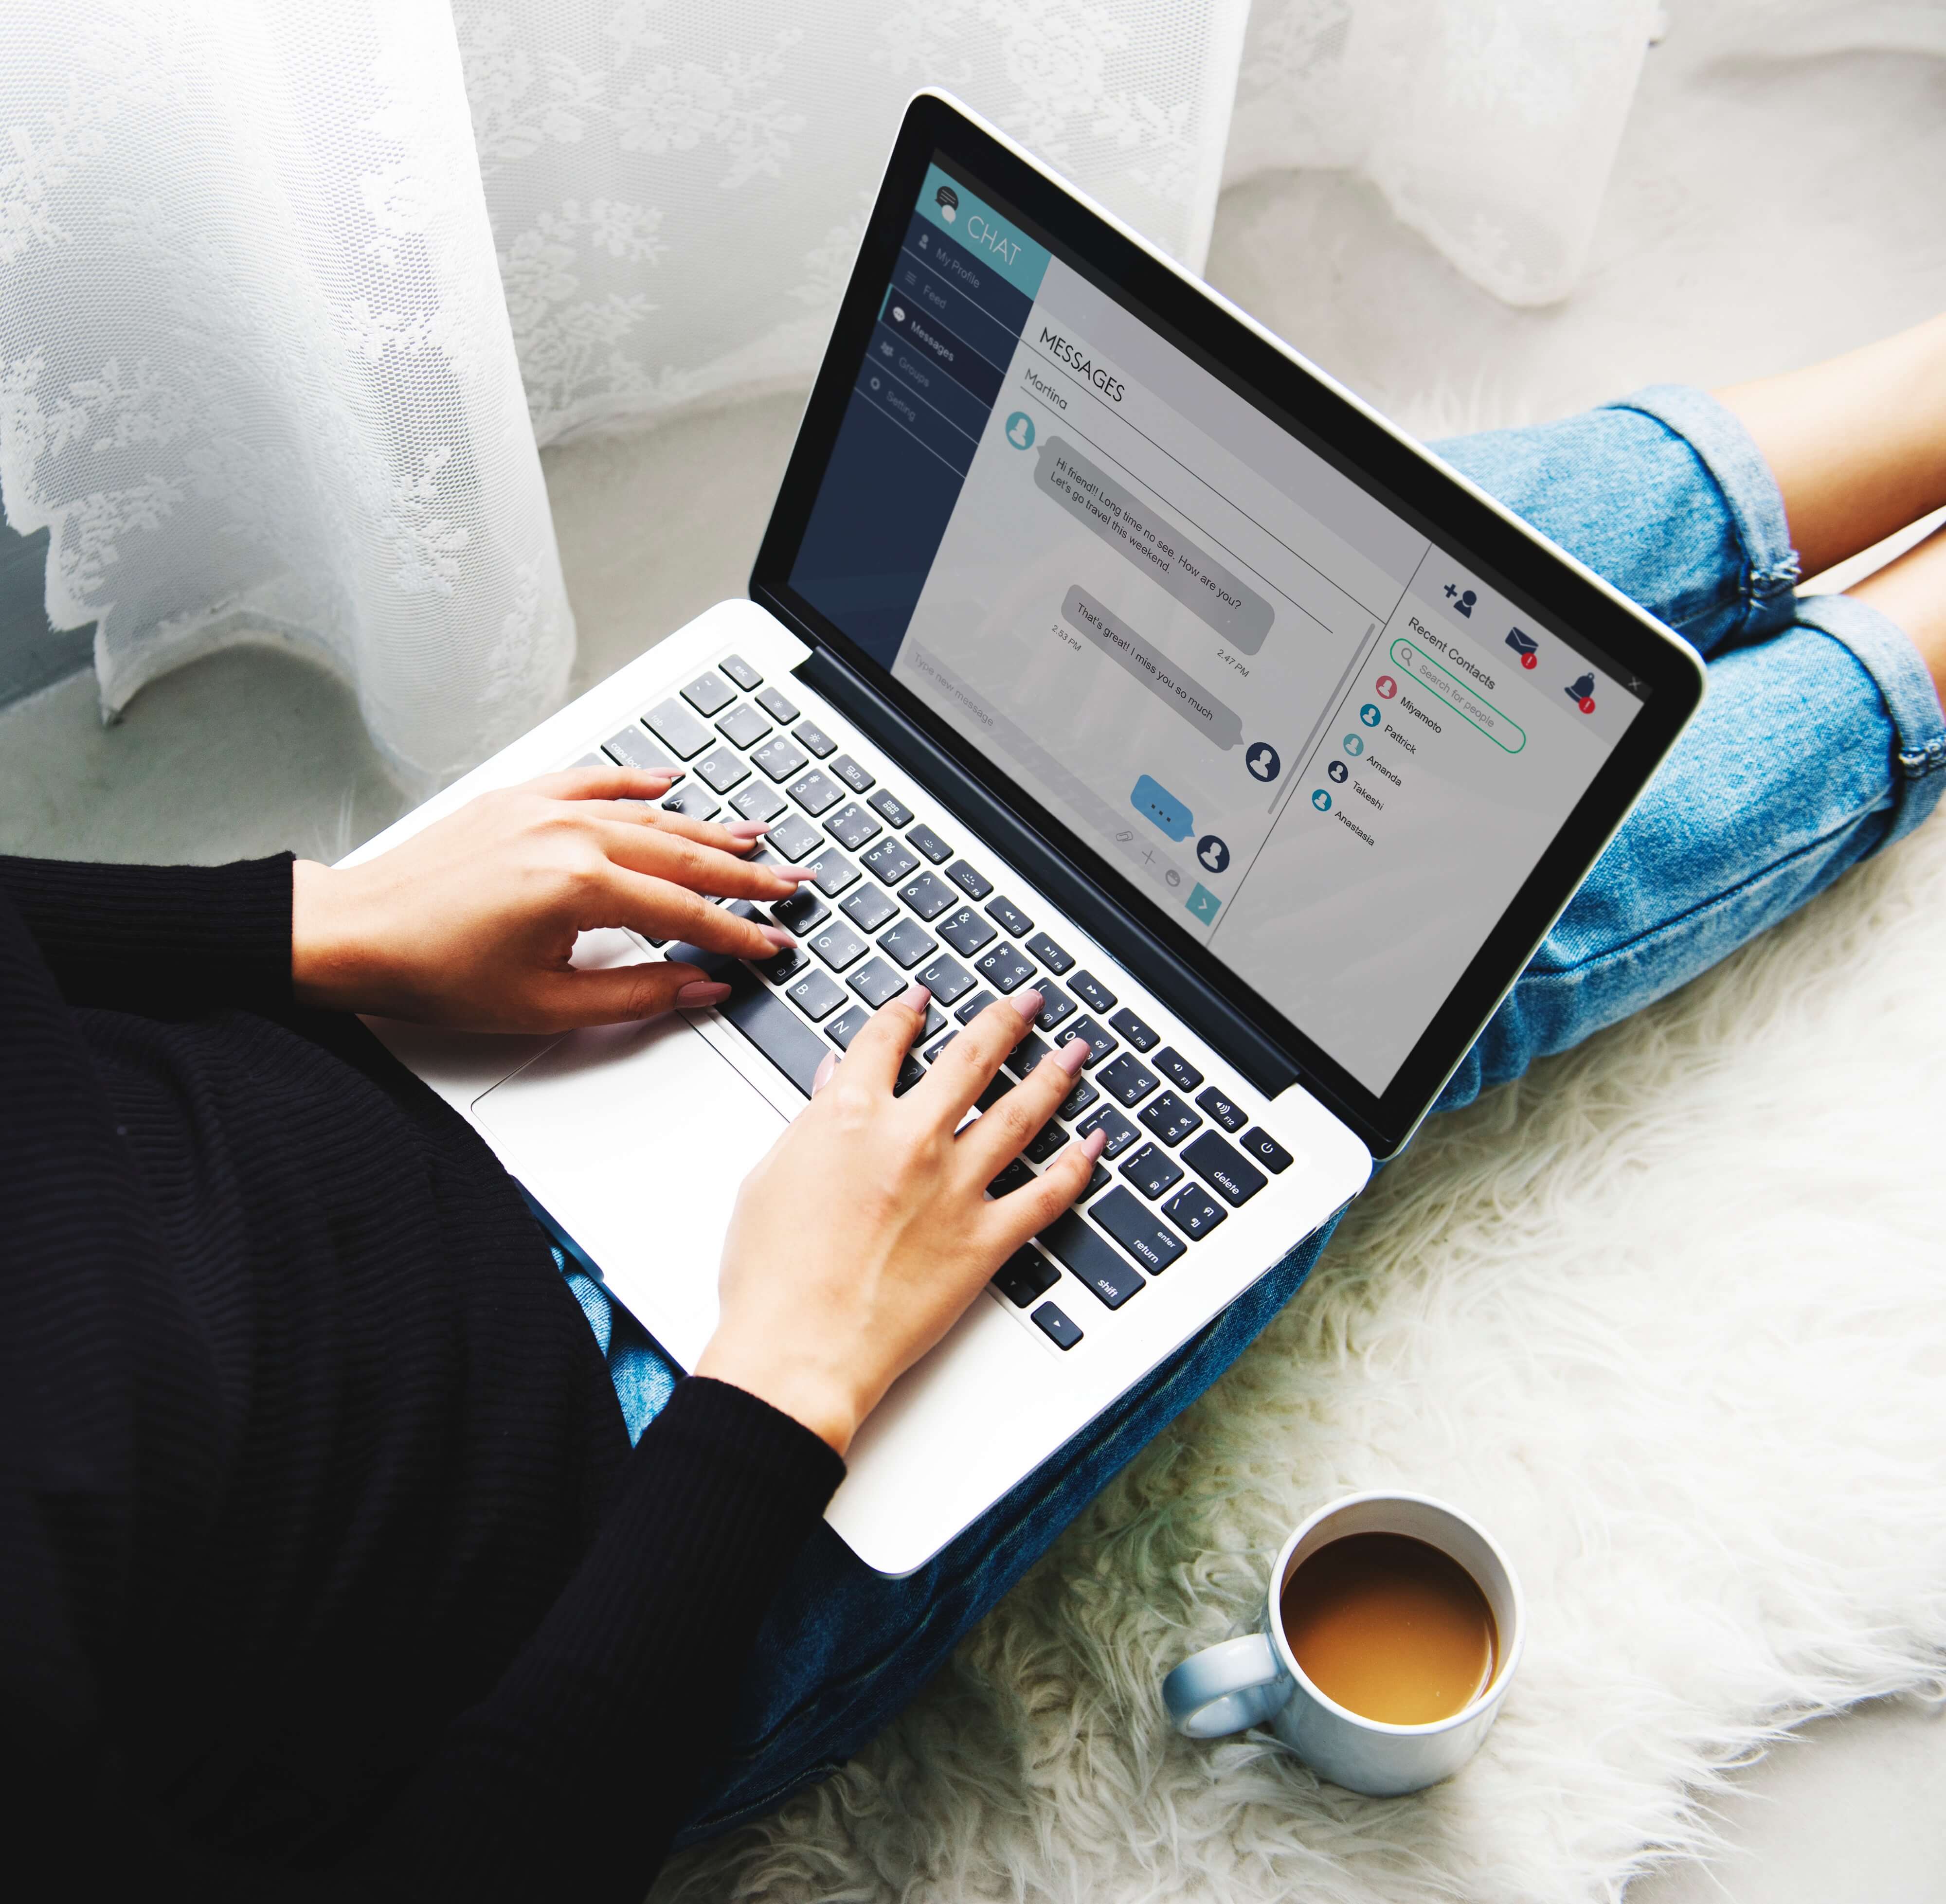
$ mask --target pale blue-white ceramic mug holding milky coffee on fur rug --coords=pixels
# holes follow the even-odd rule
[[[1450,1719],[1387,1725],[1317,1690],[1284,1637],[1280,1600],[1290,1575],[1347,1534],[1411,1534],[1460,1561],[1479,1583],[1498,1628],[1498,1659],[1485,1690]],[[1417,1493],[1354,1493],[1298,1524],[1271,1567],[1263,1622],[1185,1659],[1164,1682],[1162,1703],[1179,1733],[1218,1739],[1269,1723],[1319,1777],[1374,1799],[1421,1791],[1452,1777],[1481,1746],[1520,1665],[1526,1641],[1520,1581],[1485,1530],[1442,1501]]]

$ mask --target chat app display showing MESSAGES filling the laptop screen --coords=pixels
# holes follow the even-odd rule
[[[938,165],[792,586],[1374,1092],[1640,711]]]

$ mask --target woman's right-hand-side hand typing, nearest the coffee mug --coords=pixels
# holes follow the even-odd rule
[[[697,1374],[759,1396],[839,1454],[850,1446],[994,1269],[1088,1188],[1099,1131],[1031,1184],[985,1195],[1074,1088],[1082,1038],[959,1127],[1039,1008],[1035,991],[989,1005],[903,1098],[891,1086],[926,991],[915,985],[874,1014],[743,1180]]]

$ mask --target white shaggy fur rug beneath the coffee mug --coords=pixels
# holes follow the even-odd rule
[[[1619,1896],[1781,1727],[1946,1694],[1946,822],[1436,1119],[1310,1287],[856,1764],[656,1898]],[[1485,1752],[1372,1801],[1168,1733],[1282,1532],[1401,1483],[1532,1620]]]

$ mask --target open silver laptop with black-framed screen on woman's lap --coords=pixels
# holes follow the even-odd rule
[[[1399,1151],[1701,693],[1660,623],[919,93],[749,600],[354,855],[578,761],[681,765],[669,806],[817,866],[773,907],[796,952],[654,1024],[376,1028],[693,1367],[736,1190],[823,1055],[919,979],[903,1088],[1041,991],[983,1102],[1092,1055],[998,1188],[1107,1149],[850,1450],[829,1522],[903,1575]]]

